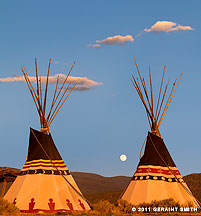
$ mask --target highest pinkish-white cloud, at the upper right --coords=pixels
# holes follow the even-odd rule
[[[191,26],[182,26],[170,21],[157,21],[150,29],[145,28],[145,32],[170,32],[194,30]]]

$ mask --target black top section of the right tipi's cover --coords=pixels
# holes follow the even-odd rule
[[[138,166],[154,165],[176,167],[170,153],[168,152],[163,139],[148,132],[144,155],[141,157]]]

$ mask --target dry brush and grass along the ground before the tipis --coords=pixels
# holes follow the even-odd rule
[[[190,203],[189,203],[190,204]],[[89,212],[72,212],[65,213],[60,212],[56,214],[22,214],[19,209],[17,209],[13,204],[8,203],[7,201],[0,199],[0,215],[22,215],[22,216],[200,216],[201,212],[138,212],[132,211],[132,208],[138,207],[153,209],[154,207],[182,207],[178,202],[175,202],[173,199],[166,199],[162,201],[153,201],[151,203],[142,203],[138,206],[133,206],[131,203],[128,203],[125,200],[119,200],[117,205],[110,203],[107,200],[101,200],[96,204],[93,204],[93,210]]]

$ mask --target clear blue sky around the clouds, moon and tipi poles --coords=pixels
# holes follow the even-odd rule
[[[51,75],[67,73],[76,60],[72,76],[103,84],[71,94],[50,127],[57,148],[71,171],[131,176],[149,130],[130,81],[137,73],[133,56],[145,77],[150,64],[154,94],[164,65],[166,80],[183,72],[160,132],[182,175],[200,172],[200,8],[198,0],[2,1],[0,78],[22,75],[23,64],[34,76],[35,57],[42,75],[49,58],[57,62]],[[175,25],[157,30],[157,21]],[[179,25],[191,30],[171,29]],[[117,35],[134,40],[104,44]],[[0,82],[0,98],[0,166],[21,168],[29,127],[39,130],[39,117],[24,82]]]

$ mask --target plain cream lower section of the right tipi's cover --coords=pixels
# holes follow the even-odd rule
[[[187,189],[186,183],[182,183]],[[189,189],[188,189],[189,190]],[[139,205],[143,202],[161,201],[164,199],[174,199],[181,205],[196,207],[194,198],[189,195],[178,182],[166,182],[157,180],[132,180],[128,185],[121,199]]]

